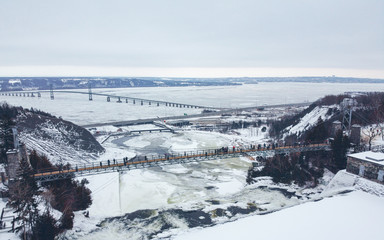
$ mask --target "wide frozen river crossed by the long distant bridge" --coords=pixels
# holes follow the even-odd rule
[[[384,84],[279,82],[241,86],[123,88],[94,89],[93,91],[210,107],[242,108],[264,104],[311,102],[325,95],[347,91],[384,91]],[[33,107],[50,112],[79,125],[201,112],[201,109],[140,106],[125,102],[116,103],[115,100],[107,102],[106,97],[101,96],[94,96],[93,101],[88,101],[88,96],[83,94],[55,93],[55,100],[50,100],[49,92],[46,92],[41,98],[0,96],[0,100],[15,106]]]

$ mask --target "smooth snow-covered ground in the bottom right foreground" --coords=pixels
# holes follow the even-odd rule
[[[345,191],[352,192],[334,195]],[[383,239],[384,185],[340,171],[319,197],[325,199],[193,229],[174,239]]]

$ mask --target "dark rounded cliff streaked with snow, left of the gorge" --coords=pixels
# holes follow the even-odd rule
[[[46,113],[19,110],[17,129],[28,149],[47,155],[53,164],[87,163],[104,152],[86,129]]]

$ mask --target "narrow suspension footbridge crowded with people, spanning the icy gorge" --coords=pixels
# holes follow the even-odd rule
[[[40,169],[33,177],[39,182],[56,181],[60,179],[68,179],[79,176],[103,174],[110,172],[129,171],[133,169],[157,167],[171,164],[181,164],[189,162],[199,162],[208,160],[219,160],[224,158],[235,158],[240,156],[248,156],[254,160],[254,156],[266,156],[267,154],[282,154],[293,152],[308,152],[329,150],[328,144],[308,144],[282,147],[261,147],[249,146],[246,148],[220,148],[206,149],[192,152],[184,152],[177,154],[153,155],[153,156],[136,156],[132,159],[124,158],[120,160],[108,160],[104,162],[96,162],[92,164],[84,164],[82,166],[72,166],[66,169]]]

